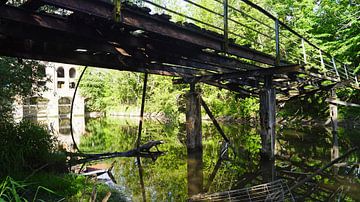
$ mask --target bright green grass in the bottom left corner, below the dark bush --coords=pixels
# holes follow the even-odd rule
[[[103,199],[108,192],[111,193],[108,201],[126,201],[117,190],[85,176],[40,172],[26,181],[15,180],[11,177],[0,181],[0,202],[89,201],[94,187],[97,190],[97,201]]]

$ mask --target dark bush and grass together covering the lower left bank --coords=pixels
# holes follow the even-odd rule
[[[124,196],[105,184],[69,173],[66,155],[46,128],[22,121],[0,120],[0,202],[89,201],[95,193],[101,201],[124,201]]]

